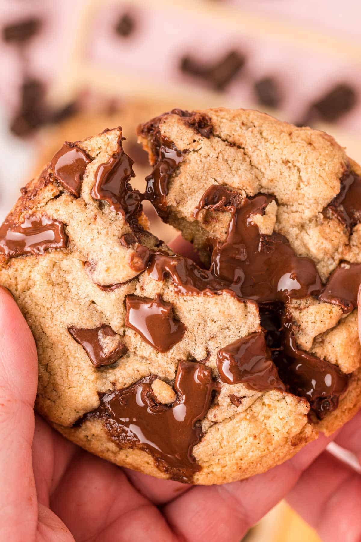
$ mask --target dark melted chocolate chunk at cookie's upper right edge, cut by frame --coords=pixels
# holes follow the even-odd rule
[[[340,191],[326,210],[336,214],[337,218],[352,229],[361,221],[361,177],[352,171],[341,179]]]

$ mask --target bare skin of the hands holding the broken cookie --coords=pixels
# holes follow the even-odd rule
[[[178,240],[173,249],[189,255]],[[361,311],[359,311],[361,314]],[[361,477],[320,436],[264,474],[190,486],[116,467],[65,440],[37,414],[37,356],[0,288],[0,540],[239,542],[288,494],[327,542],[361,540]],[[361,413],[332,438],[361,456]]]

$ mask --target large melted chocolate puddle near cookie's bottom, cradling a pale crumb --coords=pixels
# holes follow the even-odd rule
[[[192,449],[203,436],[199,422],[211,404],[212,370],[201,363],[180,362],[172,405],[157,403],[152,390],[155,378],[142,378],[129,388],[103,395],[99,408],[87,418],[101,418],[121,448],[147,451],[173,480],[191,482],[201,469]]]

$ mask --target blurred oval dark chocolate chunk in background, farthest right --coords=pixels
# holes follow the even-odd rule
[[[316,112],[322,120],[334,122],[345,113],[349,113],[357,102],[355,89],[346,83],[339,83],[327,92],[323,98],[312,104],[313,112]]]

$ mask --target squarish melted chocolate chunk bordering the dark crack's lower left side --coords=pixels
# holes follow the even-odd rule
[[[220,379],[226,384],[244,384],[255,391],[286,391],[263,332],[237,339],[217,352]]]

